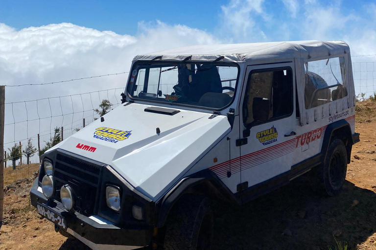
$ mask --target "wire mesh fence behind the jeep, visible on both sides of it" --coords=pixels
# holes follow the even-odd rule
[[[364,93],[365,97],[373,95],[376,92],[376,56],[352,58],[352,71],[356,95],[361,93]],[[75,79],[75,81],[80,81],[80,79]],[[229,86],[235,87],[236,81],[234,79],[229,78],[225,82]],[[167,86],[168,89],[173,86],[172,83],[170,85]],[[113,104],[112,108],[121,104],[120,94],[123,91],[124,88],[112,88],[32,101],[6,103],[4,127],[4,151],[6,151],[6,155],[10,154],[10,149],[15,145],[21,144],[22,151],[24,151],[27,141],[30,139],[31,145],[37,151],[29,157],[29,163],[39,163],[38,149],[43,149],[53,139],[55,128],[59,129],[61,139],[68,138],[85,125],[92,123],[94,119],[99,118],[95,109],[99,108],[102,100],[109,100]],[[16,159],[16,166],[26,164],[27,161],[24,153],[22,153],[22,158],[16,157],[14,159]],[[12,167],[13,161],[8,158],[5,164],[6,167]]]

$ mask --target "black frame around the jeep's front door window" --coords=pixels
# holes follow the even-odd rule
[[[252,74],[254,74],[254,73],[262,73],[262,72],[269,72],[269,71],[279,71],[279,70],[291,70],[292,78],[291,78],[291,104],[290,104],[291,105],[290,106],[290,110],[291,111],[290,111],[290,113],[284,114],[284,115],[280,115],[280,116],[277,116],[277,117],[272,117],[268,121],[253,121],[253,122],[247,124],[246,123],[247,118],[245,117],[244,107],[247,104],[248,89],[249,89],[249,87],[251,85],[250,80],[251,80]],[[243,104],[242,104],[242,110],[241,110],[241,112],[242,112],[242,117],[243,117],[243,125],[246,128],[251,128],[251,127],[256,126],[256,125],[266,124],[266,123],[269,123],[269,122],[274,122],[274,121],[277,121],[277,120],[288,118],[288,117],[290,117],[294,113],[294,101],[295,101],[295,99],[294,99],[294,70],[292,69],[291,66],[283,66],[283,67],[277,67],[277,68],[253,69],[248,74],[247,86],[245,88],[245,95],[244,95]]]

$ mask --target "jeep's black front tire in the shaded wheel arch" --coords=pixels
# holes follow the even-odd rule
[[[172,208],[164,236],[164,250],[210,250],[213,214],[207,197],[186,194]]]

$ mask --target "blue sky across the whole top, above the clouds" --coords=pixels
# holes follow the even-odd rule
[[[231,8],[231,5],[234,5],[234,8]],[[258,5],[262,12],[257,10]],[[374,6],[374,1],[371,0],[212,0],[190,2],[167,0],[1,0],[0,22],[18,30],[30,26],[38,27],[51,23],[69,22],[99,31],[111,30],[120,35],[135,36],[140,32],[139,22],[152,25],[159,20],[169,25],[187,25],[190,28],[206,31],[218,38],[226,38],[231,42],[342,39],[344,34],[341,32],[345,29],[343,26],[338,28],[338,24],[343,22],[341,18],[346,18],[346,26],[351,29],[356,29],[357,26],[375,28],[375,22],[373,25],[372,22],[365,23],[366,20],[375,20],[375,12],[370,11],[375,8]],[[226,8],[229,9],[229,13],[238,12],[239,19],[250,19],[255,22],[251,38],[250,31],[245,36],[229,34],[228,30],[231,27],[227,27],[227,30],[224,31],[223,27],[228,22],[228,17],[224,14]],[[296,10],[292,11],[294,8]],[[319,13],[319,10],[331,9],[334,9],[334,13],[327,14],[337,17],[338,23],[330,29],[329,36],[321,38],[315,34],[315,37],[310,37],[302,32],[303,29],[306,29],[302,24],[307,21],[307,18],[314,16],[315,12]],[[245,11],[241,13],[242,10]],[[327,17],[324,16],[323,19],[325,18]],[[241,20],[239,21],[239,25],[244,24],[241,23]],[[336,20],[330,21],[335,22]],[[236,23],[231,25],[235,25],[235,29],[239,28],[236,27]],[[314,23],[314,25],[319,24]],[[316,29],[316,27],[313,26],[312,29]],[[258,31],[262,31],[262,34]]]

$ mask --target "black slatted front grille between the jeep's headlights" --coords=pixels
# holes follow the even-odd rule
[[[69,184],[75,192],[74,210],[85,215],[94,214],[98,199],[103,166],[58,152],[53,177],[56,182],[55,199],[60,201],[60,188]]]

